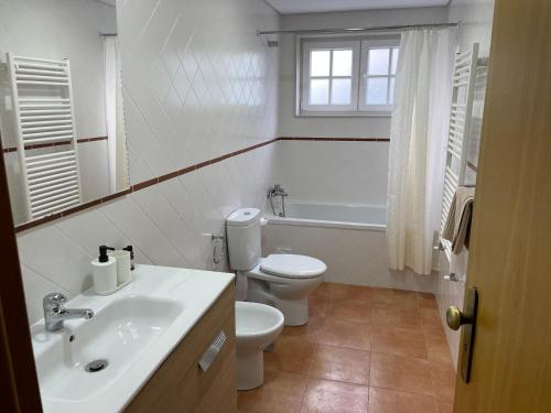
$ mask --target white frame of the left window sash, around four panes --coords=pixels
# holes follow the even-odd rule
[[[333,76],[333,52],[338,50],[350,50],[353,53],[352,58],[352,73],[350,76]],[[329,53],[329,74],[327,76],[310,76],[310,58],[311,52],[331,51]],[[360,43],[357,40],[348,41],[309,41],[302,43],[302,95],[301,108],[305,111],[312,112],[346,112],[357,110],[358,107],[358,85],[359,85],[359,56]],[[311,79],[328,79],[328,105],[310,105],[310,80]],[[333,79],[350,79],[350,105],[331,105]]]

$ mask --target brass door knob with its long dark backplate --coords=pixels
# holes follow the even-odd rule
[[[476,313],[478,309],[478,292],[469,287],[465,292],[465,304],[463,312],[455,305],[446,309],[446,323],[453,330],[465,326],[461,336],[461,377],[468,383],[471,377],[471,365],[473,363],[473,346],[475,343]]]

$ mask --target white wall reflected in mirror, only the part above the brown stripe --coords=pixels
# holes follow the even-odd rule
[[[0,59],[6,53],[69,58],[76,132],[106,135],[104,44],[99,32],[116,32],[115,8],[96,0],[0,0]],[[9,123],[9,122],[7,122]],[[12,138],[7,133],[6,138]],[[15,141],[2,140],[4,146]]]

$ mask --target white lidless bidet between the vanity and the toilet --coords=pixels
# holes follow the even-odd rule
[[[236,302],[237,390],[249,390],[264,381],[264,348],[283,328],[278,308],[258,303]]]

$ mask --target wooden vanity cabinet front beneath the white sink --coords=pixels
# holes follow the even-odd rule
[[[180,341],[130,402],[127,413],[237,411],[234,290],[234,285],[229,285]],[[226,343],[208,370],[203,371],[199,359],[220,330],[226,335]]]

